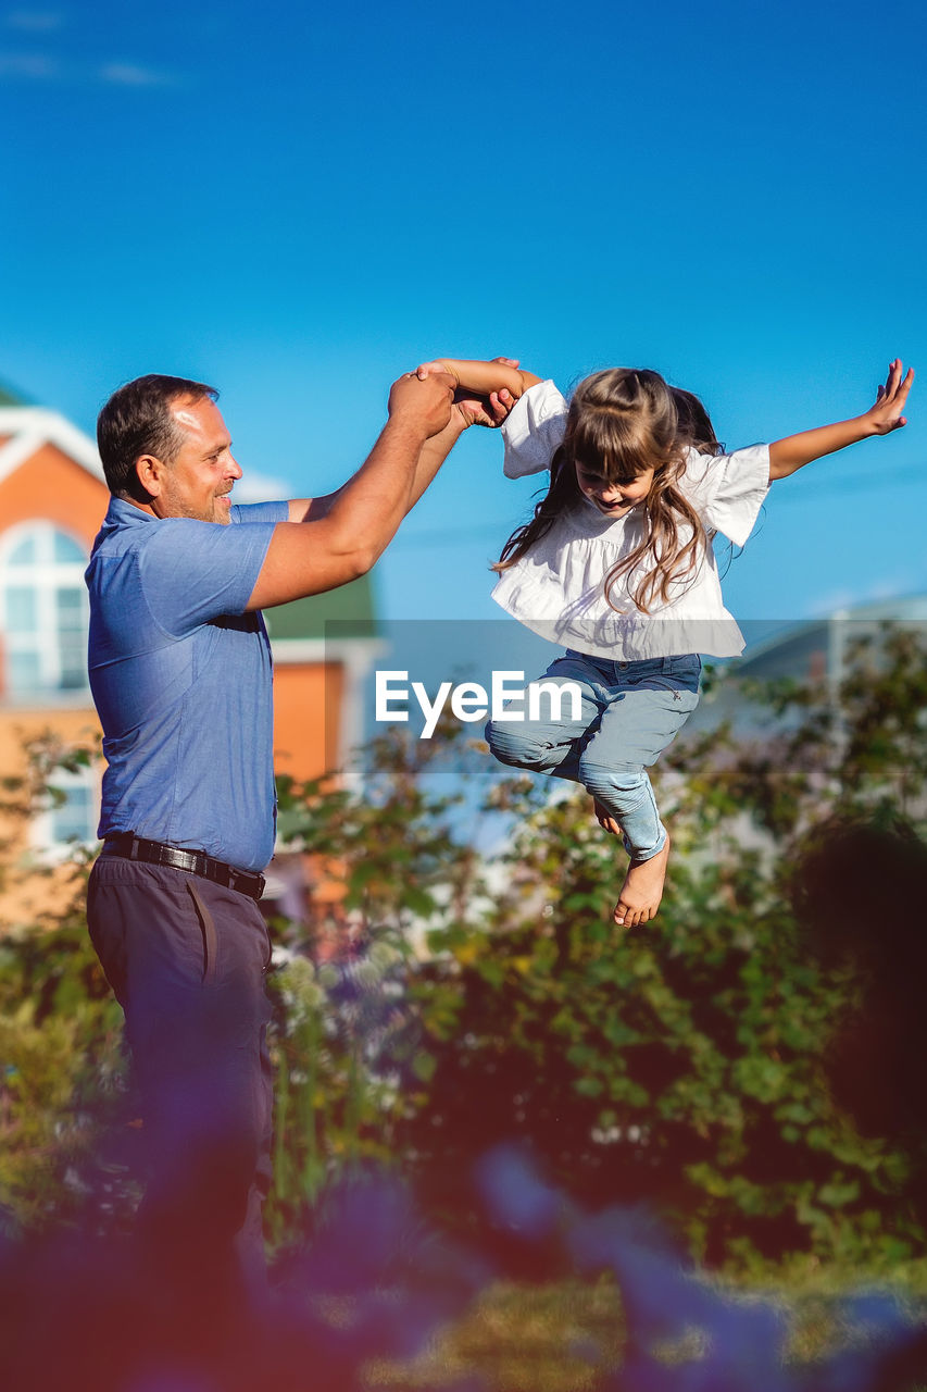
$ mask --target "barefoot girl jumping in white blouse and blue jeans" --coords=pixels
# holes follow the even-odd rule
[[[505,473],[550,469],[533,519],[502,547],[493,597],[544,638],[566,646],[544,682],[576,682],[579,721],[551,703],[547,721],[490,721],[486,738],[505,764],[582,782],[605,830],[631,857],[615,923],[657,912],[670,855],[647,767],[699,700],[699,653],[743,650],[724,608],[711,539],[743,546],[768,486],[802,465],[903,426],[913,381],[889,365],[862,416],[771,445],[721,452],[697,397],[650,370],[593,373],[568,405],[553,381],[514,359],[440,359],[462,413],[501,425]],[[482,401],[480,401],[482,398]],[[489,404],[487,404],[489,402]]]

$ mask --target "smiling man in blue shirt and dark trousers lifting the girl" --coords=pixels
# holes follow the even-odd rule
[[[276,798],[260,610],[370,569],[470,423],[451,388],[408,373],[347,484],[256,507],[231,503],[242,470],[212,387],[139,377],[100,412],[113,497],[86,583],[109,767],[88,922],[142,1094],[145,1260],[188,1293],[214,1299],[263,1270],[270,945],[258,899]]]

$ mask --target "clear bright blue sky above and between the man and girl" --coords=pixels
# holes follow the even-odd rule
[[[0,6],[0,377],[92,432],[203,377],[248,472],[327,491],[438,352],[697,391],[746,444],[910,426],[774,489],[725,594],[927,590],[924,11],[475,3]],[[384,617],[494,618],[532,483],[469,432],[377,567]]]

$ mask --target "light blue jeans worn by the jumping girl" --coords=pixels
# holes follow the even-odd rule
[[[702,661],[695,653],[618,663],[568,649],[539,681],[576,682],[582,713],[565,697],[558,720],[491,720],[486,739],[496,757],[580,782],[624,831],[635,860],[656,856],[667,839],[647,777],[699,704]],[[541,697],[541,713],[547,709]]]

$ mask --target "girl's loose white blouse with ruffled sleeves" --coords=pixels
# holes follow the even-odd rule
[[[530,387],[502,425],[507,476],[518,479],[548,469],[565,426],[566,402],[554,383]],[[768,487],[770,450],[764,444],[720,455],[689,450],[679,479],[708,539],[722,532],[736,546],[743,546],[753,530]],[[697,569],[674,582],[670,601],[654,600],[650,614],[643,614],[632,599],[649,569],[646,564],[621,576],[611,587],[611,604],[605,600],[605,576],[643,540],[646,528],[643,504],[622,518],[607,518],[582,498],[528,555],[502,571],[493,599],[541,638],[596,657],[736,657],[743,651],[743,636],[721,600],[710,544]]]

